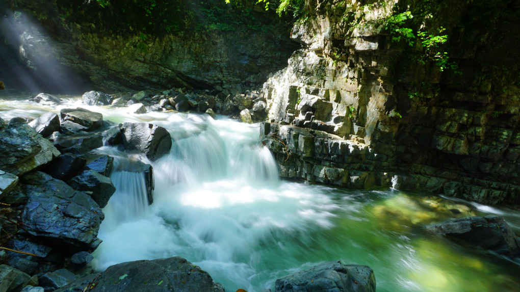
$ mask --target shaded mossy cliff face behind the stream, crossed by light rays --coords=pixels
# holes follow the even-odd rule
[[[11,35],[4,36],[11,55],[23,50],[21,60],[32,71],[63,75],[60,80],[75,72],[107,91],[259,85],[297,47],[276,16],[224,1],[111,0],[101,7],[96,1],[16,0],[7,8],[3,31]],[[49,70],[49,64],[68,72]]]

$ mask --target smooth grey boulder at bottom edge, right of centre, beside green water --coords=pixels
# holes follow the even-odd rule
[[[276,292],[375,292],[368,266],[331,261],[276,280]]]

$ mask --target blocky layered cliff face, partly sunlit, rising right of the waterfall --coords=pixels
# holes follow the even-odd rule
[[[307,1],[292,30],[304,48],[263,89],[282,176],[520,203],[519,8]]]

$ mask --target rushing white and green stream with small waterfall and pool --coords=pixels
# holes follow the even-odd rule
[[[27,97],[24,97],[27,98]],[[0,116],[37,117],[81,106],[105,120],[148,122],[173,138],[151,163],[154,203],[144,177],[114,170],[116,186],[101,224],[94,265],[181,256],[226,291],[270,288],[277,278],[315,264],[365,264],[378,291],[518,291],[519,266],[484,250],[424,231],[424,224],[477,215],[504,217],[520,234],[517,210],[397,190],[359,191],[288,182],[258,141],[258,125],[186,113],[129,115],[121,108],[42,107],[0,100]],[[102,147],[118,160],[131,155]]]

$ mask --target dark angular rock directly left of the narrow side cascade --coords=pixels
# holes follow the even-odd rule
[[[92,169],[85,170],[79,176],[71,178],[67,181],[67,184],[75,190],[90,192],[90,197],[101,208],[107,205],[108,200],[115,192],[115,187],[110,178],[100,175]]]

